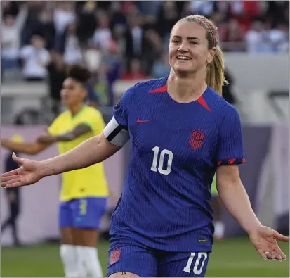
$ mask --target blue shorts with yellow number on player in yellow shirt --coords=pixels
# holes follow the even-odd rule
[[[79,198],[60,202],[60,227],[98,229],[105,213],[107,198]]]

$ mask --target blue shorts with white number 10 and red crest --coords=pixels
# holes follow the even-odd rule
[[[204,277],[209,254],[160,251],[128,238],[111,239],[107,277],[117,272],[140,277]]]

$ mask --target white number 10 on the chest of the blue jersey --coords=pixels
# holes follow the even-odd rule
[[[171,172],[171,165],[173,160],[173,153],[169,150],[162,150],[159,155],[159,146],[154,146],[152,151],[154,151],[153,156],[153,163],[151,167],[151,171],[153,172],[159,172],[162,175],[169,175]],[[164,165],[164,156],[168,156],[167,165]],[[158,163],[159,158],[159,163]],[[158,166],[157,166],[158,163]]]

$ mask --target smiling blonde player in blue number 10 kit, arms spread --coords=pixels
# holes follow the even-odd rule
[[[211,182],[265,259],[285,259],[259,222],[239,178],[244,163],[239,116],[222,96],[217,27],[200,15],[174,25],[169,76],[140,82],[114,107],[102,134],[54,158],[1,175],[2,187],[33,184],[100,163],[131,141],[125,186],[110,227],[109,277],[203,277],[211,253]]]

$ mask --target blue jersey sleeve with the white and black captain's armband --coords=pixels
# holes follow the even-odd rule
[[[104,129],[105,138],[116,146],[124,146],[130,139],[128,131],[128,110],[130,107],[133,91],[131,87],[121,96],[120,101],[113,109],[113,118]]]

